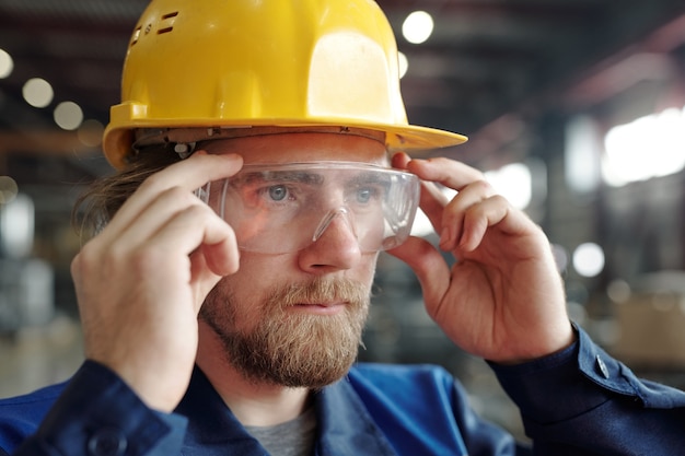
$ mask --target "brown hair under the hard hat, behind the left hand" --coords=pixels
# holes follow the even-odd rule
[[[151,145],[130,155],[125,168],[95,179],[73,207],[71,220],[77,232],[85,238],[97,234],[143,180],[178,161],[170,144]]]

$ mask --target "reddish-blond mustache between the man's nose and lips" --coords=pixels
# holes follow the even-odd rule
[[[315,279],[305,283],[288,283],[269,293],[266,302],[279,303],[281,308],[298,304],[345,302],[363,307],[370,300],[367,285],[350,279]]]

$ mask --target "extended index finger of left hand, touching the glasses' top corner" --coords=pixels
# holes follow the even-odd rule
[[[116,236],[135,220],[156,196],[170,188],[193,192],[208,182],[218,180],[235,174],[242,166],[242,157],[236,154],[209,155],[198,151],[189,159],[164,168],[148,177],[136,192],[121,206],[116,217],[109,222],[104,236]]]

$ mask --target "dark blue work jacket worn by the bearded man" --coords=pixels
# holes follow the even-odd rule
[[[638,379],[582,330],[562,352],[491,367],[521,409],[533,448],[479,419],[440,367],[358,364],[315,394],[314,454],[685,455],[685,394]],[[92,361],[68,383],[1,400],[0,448],[16,456],[267,454],[199,370],[166,414]]]

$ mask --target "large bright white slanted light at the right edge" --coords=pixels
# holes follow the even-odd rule
[[[604,138],[604,180],[614,187],[685,168],[685,108],[670,108],[612,128]]]

